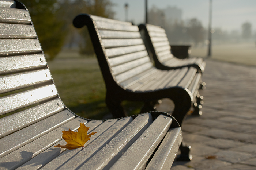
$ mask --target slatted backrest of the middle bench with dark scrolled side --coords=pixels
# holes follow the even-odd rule
[[[154,69],[138,26],[87,14],[77,16],[73,24],[87,26],[107,89],[116,83],[125,89],[134,81],[129,79]]]

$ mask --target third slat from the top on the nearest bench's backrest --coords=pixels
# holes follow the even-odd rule
[[[37,38],[33,25],[0,23],[0,39]]]

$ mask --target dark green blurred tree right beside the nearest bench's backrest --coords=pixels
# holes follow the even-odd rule
[[[29,9],[31,19],[41,46],[48,59],[53,59],[61,50],[67,27],[59,18],[60,6],[57,0],[23,0]]]

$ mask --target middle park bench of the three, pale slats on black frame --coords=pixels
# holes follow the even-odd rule
[[[161,70],[153,66],[138,26],[94,15],[76,16],[77,28],[87,26],[106,84],[106,104],[114,117],[126,116],[122,101],[142,101],[141,112],[154,110],[155,101],[170,98],[172,115],[182,121],[193,105],[202,114],[199,95],[201,73],[194,67]]]

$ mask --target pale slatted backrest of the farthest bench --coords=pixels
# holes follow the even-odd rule
[[[150,49],[154,49],[150,50],[150,52],[156,65],[158,62],[163,63],[174,57],[171,53],[171,46],[165,29],[151,24],[141,24],[139,29],[145,31],[145,43]]]

